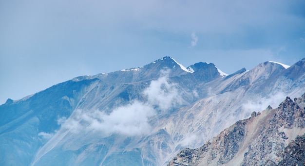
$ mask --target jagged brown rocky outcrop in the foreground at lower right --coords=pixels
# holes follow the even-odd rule
[[[183,149],[168,166],[305,164],[305,94],[253,112],[198,149]]]

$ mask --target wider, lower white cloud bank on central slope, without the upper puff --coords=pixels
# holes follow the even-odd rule
[[[63,128],[72,133],[98,132],[103,136],[112,133],[137,135],[147,133],[150,129],[148,120],[155,115],[152,106],[139,101],[118,107],[109,115],[94,110],[76,110],[75,116],[69,118]]]

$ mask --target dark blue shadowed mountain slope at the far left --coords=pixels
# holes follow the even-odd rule
[[[68,81],[0,105],[0,165],[29,165],[46,141],[39,133],[57,130],[57,117],[70,116],[90,84],[96,82],[97,79]]]

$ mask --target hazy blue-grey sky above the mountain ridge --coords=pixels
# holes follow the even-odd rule
[[[164,56],[231,74],[305,58],[304,0],[1,0],[0,104]]]

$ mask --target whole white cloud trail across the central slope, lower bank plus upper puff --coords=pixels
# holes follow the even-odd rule
[[[162,71],[162,76],[152,81],[143,95],[147,98],[146,102],[133,100],[115,108],[110,114],[99,110],[76,110],[62,124],[62,129],[71,133],[97,132],[102,137],[113,133],[127,136],[147,134],[151,131],[151,118],[165,114],[182,103],[176,84],[168,82],[168,71]]]

